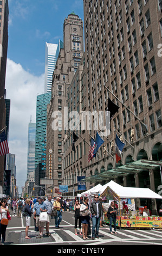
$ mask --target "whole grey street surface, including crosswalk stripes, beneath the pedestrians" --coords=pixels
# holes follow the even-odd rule
[[[77,235],[75,235],[74,212],[68,211],[63,212],[59,229],[55,228],[55,219],[51,219],[51,236],[47,237],[45,235],[46,229],[44,228],[42,239],[36,238],[39,233],[35,231],[34,219],[31,217],[31,226],[28,233],[31,239],[25,239],[25,217],[18,218],[17,215],[12,214],[12,211],[10,215],[11,221],[9,221],[5,239],[5,245],[8,246],[55,245],[61,250],[63,248],[92,247],[98,250],[92,251],[92,253],[103,253],[101,249],[106,250],[108,245],[162,245],[162,230],[160,229],[117,229],[118,234],[112,235],[109,232],[109,225],[100,228],[99,239],[92,240],[92,237],[89,235],[88,239],[83,240],[83,236],[79,235],[79,229],[77,230]],[[92,231],[92,221],[90,221],[90,224]],[[64,252],[67,253],[67,251]],[[60,253],[63,253],[63,251],[60,251]],[[82,253],[89,252],[82,251]],[[76,252],[72,254],[76,254]]]

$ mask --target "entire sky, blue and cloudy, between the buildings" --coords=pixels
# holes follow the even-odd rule
[[[63,41],[63,22],[73,11],[83,20],[83,0],[8,1],[8,144],[16,155],[16,184],[21,193],[27,179],[28,124],[30,117],[35,123],[36,96],[44,93],[45,44]]]

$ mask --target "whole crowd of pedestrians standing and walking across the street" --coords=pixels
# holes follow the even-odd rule
[[[29,227],[31,225],[31,217],[34,218],[35,231],[39,234],[36,236],[37,239],[43,237],[43,229],[46,228],[46,236],[50,236],[49,224],[51,218],[55,218],[55,228],[60,228],[60,223],[62,221],[62,210],[64,211],[74,211],[75,218],[75,235],[77,234],[77,223],[79,224],[79,235],[83,236],[83,240],[88,239],[87,235],[91,235],[90,231],[90,217],[92,220],[92,239],[99,238],[99,227],[102,227],[103,218],[103,205],[102,200],[99,198],[98,194],[94,196],[93,202],[89,206],[88,198],[85,197],[83,200],[76,199],[75,202],[71,199],[62,200],[60,197],[55,199],[51,196],[47,198],[36,197],[36,198],[8,198],[0,201],[1,205],[1,215],[0,215],[0,243],[2,236],[2,243],[5,241],[5,231],[7,224],[3,224],[2,219],[10,218],[10,210],[13,214],[20,218],[22,215],[25,216],[26,228],[25,228],[25,239],[31,239],[28,235]],[[112,233],[112,223],[114,224],[114,233],[116,234],[116,208],[114,202],[108,209],[110,215],[110,231]]]

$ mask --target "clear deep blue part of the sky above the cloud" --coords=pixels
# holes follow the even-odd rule
[[[9,0],[8,58],[41,75],[45,42],[63,41],[64,18],[72,11],[83,20],[83,0]]]

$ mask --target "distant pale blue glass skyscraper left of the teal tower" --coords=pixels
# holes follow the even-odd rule
[[[28,159],[27,159],[27,180],[29,181],[34,181],[34,177],[35,177],[35,131],[36,131],[36,124],[29,123]]]

